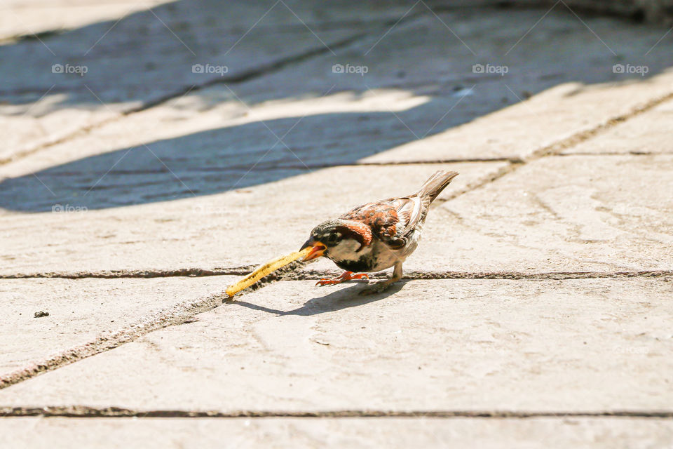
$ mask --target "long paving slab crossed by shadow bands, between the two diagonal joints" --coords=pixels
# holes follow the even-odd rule
[[[90,189],[105,191],[107,201],[101,207],[210,194],[222,190],[217,182],[208,182],[215,175],[208,177],[205,172],[212,170],[257,170],[278,166],[301,168],[304,164],[332,165],[359,161],[386,163],[518,158],[568,137],[578,129],[590,129],[613,114],[626,113],[669,93],[670,83],[666,75],[640,83],[627,83],[627,86],[616,87],[616,91],[612,91],[610,86],[564,85],[516,107],[477,119],[467,128],[449,129],[498,109],[503,105],[503,98],[505,104],[508,103],[508,98],[502,96],[504,91],[511,96],[510,100],[518,101],[517,95],[511,94],[517,91],[519,84],[528,86],[534,93],[571,79],[584,79],[591,83],[604,80],[606,76],[608,79],[618,76],[606,72],[610,58],[601,56],[599,60],[585,60],[587,52],[569,53],[578,55],[569,57],[580,58],[573,63],[560,63],[558,58],[541,54],[541,60],[537,62],[545,69],[536,72],[526,66],[529,64],[526,62],[528,53],[519,54],[517,46],[510,56],[519,58],[510,62],[512,67],[518,67],[513,72],[515,78],[505,82],[505,79],[498,80],[497,77],[477,76],[475,86],[480,86],[481,93],[473,95],[474,92],[465,90],[461,83],[465,81],[465,76],[472,79],[476,74],[471,67],[463,67],[463,63],[455,58],[447,58],[456,49],[471,55],[469,49],[458,39],[450,44],[425,48],[429,45],[428,39],[419,40],[417,36],[428,32],[439,39],[447,34],[444,27],[447,20],[451,25],[467,20],[465,23],[469,23],[470,27],[465,27],[463,31],[469,32],[476,41],[482,39],[481,45],[488,49],[487,53],[496,55],[502,46],[503,36],[494,37],[485,32],[486,29],[492,30],[489,24],[504,20],[505,13],[487,9],[481,14],[481,10],[477,9],[458,15],[440,15],[440,20],[434,15],[414,18],[393,29],[376,46],[376,42],[370,43],[369,39],[356,41],[352,46],[339,50],[338,58],[332,55],[310,58],[276,74],[240,83],[236,86],[238,93],[229,86],[214,86],[178,98],[170,105],[151,108],[150,111],[110,123],[17,164],[8,164],[1,168],[0,177],[18,179],[6,180],[0,186],[4,191],[14,191],[3,195],[13,202],[2,206],[36,211],[32,199],[34,189],[53,196],[46,205],[41,204],[41,210],[48,210],[56,203],[69,204],[73,195],[90,196]],[[519,19],[514,22],[518,25],[507,32],[512,38],[519,31],[519,22],[526,22],[532,13],[519,11],[517,14]],[[482,16],[488,20],[484,21]],[[285,15],[279,17],[285,18]],[[273,16],[268,20],[273,24],[279,19]],[[569,26],[566,15],[552,14],[549,20],[545,21],[545,27],[537,30],[541,36],[557,35]],[[573,27],[581,26],[574,21],[572,24]],[[287,24],[281,20],[281,25]],[[595,25],[602,27],[601,31],[609,31],[608,22],[599,20]],[[639,33],[643,31],[637,28],[628,28],[627,32],[634,33],[634,36],[633,39],[625,39],[630,42],[625,44],[628,45],[626,54],[635,54],[645,45],[647,36],[641,36]],[[521,45],[525,42],[522,41]],[[574,42],[569,41],[568,45],[575,45]],[[401,54],[399,49],[406,48],[402,43],[412,50]],[[372,49],[372,52],[367,53],[366,48]],[[659,48],[655,48],[654,53],[659,55],[658,52]],[[363,57],[365,53],[366,58]],[[337,60],[350,61],[347,63],[351,65],[367,62],[372,70],[367,77],[333,73],[332,65]],[[400,76],[401,72],[393,74],[395,61],[399,60],[409,62],[406,70],[412,72],[407,74],[402,70],[404,76]],[[665,60],[659,58],[660,67],[653,66],[651,73],[655,74],[665,67]],[[448,62],[436,65],[437,61]],[[525,70],[524,66],[527,67]],[[584,68],[564,70],[564,67]],[[532,81],[529,79],[531,76]],[[437,80],[441,82],[437,84]],[[116,86],[116,83],[111,85]],[[329,94],[330,91],[344,89],[351,92]],[[325,93],[327,98],[322,98]],[[566,103],[566,98],[571,100]],[[616,101],[614,99],[618,99],[619,105],[610,102]],[[251,105],[252,109],[248,109],[247,105]],[[94,106],[96,111],[102,107],[98,102],[94,102]],[[39,108],[36,105],[36,109]],[[597,116],[592,115],[594,110]],[[565,112],[561,114],[559,111]],[[578,111],[582,113],[578,114]],[[70,123],[76,121],[70,112],[72,109],[58,112],[64,115],[57,128],[66,130]],[[116,112],[108,109],[104,114],[107,114],[107,119],[116,116]],[[530,127],[519,126],[522,116],[541,123]],[[540,119],[541,116],[545,118]],[[223,122],[226,123],[224,126]],[[40,127],[32,123],[29,128],[31,132],[38,132]],[[493,131],[484,132],[484,128]],[[316,129],[320,129],[320,133],[315,133]],[[444,129],[449,129],[449,134],[444,136]],[[536,130],[540,132],[533,132]],[[413,142],[428,132],[430,135],[427,138]],[[433,136],[434,133],[439,134]],[[26,141],[20,133],[10,135]],[[283,136],[283,142],[279,142],[276,136]],[[509,139],[509,143],[502,139]],[[522,142],[526,142],[525,145]],[[461,147],[463,143],[465,145]],[[12,145],[7,145],[7,148],[11,152],[15,149]],[[391,148],[392,151],[381,153]],[[525,149],[519,151],[522,148]],[[231,176],[240,178],[238,173]],[[53,180],[54,177],[61,180]],[[186,182],[186,177],[195,177],[196,185],[191,180]],[[217,176],[217,180],[222,178],[222,175]],[[101,184],[101,181],[107,182]],[[172,186],[168,186],[168,182]],[[63,185],[68,188],[64,189]],[[156,187],[158,192],[145,193],[144,187],[148,185]],[[129,190],[128,187],[135,188]],[[137,193],[140,187],[143,188],[142,195]],[[16,192],[19,192],[18,197]]]

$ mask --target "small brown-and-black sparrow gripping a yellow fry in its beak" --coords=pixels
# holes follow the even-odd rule
[[[304,261],[324,256],[346,270],[338,278],[321,279],[316,285],[369,279],[367,272],[395,267],[390,279],[362,290],[369,295],[381,293],[402,279],[402,263],[419,246],[430,204],[457,175],[454,171],[437,171],[415,194],[367,203],[314,227],[301,247],[311,248]]]

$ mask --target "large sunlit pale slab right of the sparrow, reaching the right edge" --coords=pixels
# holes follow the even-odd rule
[[[672,170],[667,155],[539,159],[445,203],[414,256],[467,272],[673,269]]]

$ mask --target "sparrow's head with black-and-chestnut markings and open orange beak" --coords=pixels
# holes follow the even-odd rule
[[[362,222],[353,220],[327,220],[313,228],[311,237],[301,246],[301,250],[311,248],[304,261],[322,255],[332,260],[349,259],[372,243],[372,229]]]

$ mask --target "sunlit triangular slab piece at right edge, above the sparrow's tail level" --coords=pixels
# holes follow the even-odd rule
[[[664,102],[561,154],[673,154],[672,120],[673,102]]]

